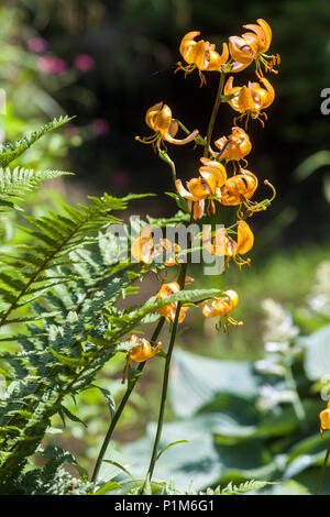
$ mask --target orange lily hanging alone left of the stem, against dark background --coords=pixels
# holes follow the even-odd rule
[[[167,105],[164,105],[164,102],[157,102],[147,110],[145,122],[155,131],[155,134],[152,136],[143,136],[143,139],[135,136],[135,140],[143,144],[152,144],[155,152],[161,150],[162,143],[166,151],[164,141],[175,145],[185,145],[193,142],[198,135],[198,130],[195,130],[186,136],[186,139],[175,139],[174,136],[178,131],[178,123],[172,119],[172,110]]]

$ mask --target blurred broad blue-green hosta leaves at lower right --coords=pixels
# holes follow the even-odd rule
[[[305,311],[306,320],[314,317]],[[168,492],[169,483],[166,493],[187,493],[193,481],[198,493],[208,493],[205,486],[223,486],[232,480],[227,488],[212,490],[226,494],[232,488],[235,494],[244,486],[248,490],[255,479],[271,483],[251,488],[261,488],[263,494],[314,493],[320,474],[317,466],[322,464],[330,441],[327,432],[323,439],[318,432],[326,402],[315,395],[316,391],[329,394],[328,334],[329,324],[308,337],[296,337],[285,352],[287,356],[280,359],[273,352],[263,360],[265,364],[268,361],[265,373],[253,363],[210,360],[176,350],[170,396],[178,419],[164,425],[161,448],[174,439],[188,438],[189,443],[167,449],[156,463],[155,481],[175,480],[175,488]],[[290,377],[287,384],[286,377],[273,373],[272,366],[285,361],[294,372],[297,392]],[[312,384],[323,376],[328,383]],[[261,397],[264,386],[276,395],[266,405]],[[148,458],[153,435],[152,425],[145,437],[123,447],[125,457],[139,458],[130,468],[135,477],[146,469],[144,458]],[[322,493],[327,493],[326,486]]]

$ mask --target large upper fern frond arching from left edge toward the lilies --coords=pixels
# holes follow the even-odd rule
[[[25,250],[22,246],[23,251],[14,258],[3,257],[8,267],[0,278],[0,295],[7,308],[0,314],[0,327],[8,322],[14,309],[37,299],[41,293],[53,287],[55,283],[73,279],[62,270],[58,279],[52,280],[54,264],[65,261],[68,254],[78,248],[98,242],[100,230],[120,221],[109,212],[127,207],[125,200],[108,194],[90,199],[88,207],[78,205],[73,208],[65,205],[64,210],[69,217],[53,212],[40,218],[25,217],[31,228],[23,230],[38,241],[38,244],[33,246],[33,251],[31,246],[25,246]],[[23,270],[22,263],[26,264]]]

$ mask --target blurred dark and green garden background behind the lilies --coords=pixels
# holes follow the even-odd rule
[[[3,0],[0,7],[0,87],[8,98],[7,113],[0,116],[0,143],[14,141],[55,116],[76,116],[68,128],[24,155],[21,164],[73,170],[73,179],[56,183],[70,201],[102,190],[156,193],[156,200],[142,201],[134,209],[157,217],[170,216],[176,207],[164,195],[172,188],[167,166],[134,140],[136,134],[150,134],[145,112],[162,100],[188,128],[204,134],[217,91],[212,74],[202,88],[197,74],[186,80],[182,73],[174,74],[182,37],[198,30],[220,45],[257,18],[271,24],[271,51],[280,54],[282,64],[279,74],[270,77],[276,99],[267,110],[265,129],[257,121],[249,127],[253,142],[249,168],[261,184],[267,178],[275,185],[277,198],[266,212],[253,217],[256,243],[251,270],[239,273],[231,265],[226,275],[207,280],[193,273],[196,284],[230,286],[241,298],[235,317],[244,320],[244,327],[227,334],[218,333],[213,321],[197,311],[187,317],[182,346],[212,358],[258,358],[262,300],[272,297],[299,319],[316,270],[329,257],[330,116],[320,110],[321,90],[330,87],[328,0]],[[249,68],[237,75],[235,82],[252,77]],[[216,138],[230,133],[232,117],[231,108],[222,107]],[[198,150],[170,147],[169,153],[178,177],[197,175]],[[263,194],[266,190],[261,187],[260,199]],[[31,211],[50,200],[59,202],[47,190],[40,196]],[[146,284],[143,293],[150,294],[156,285]],[[302,326],[302,333],[310,330]],[[107,372],[117,377],[118,394],[121,369],[119,361]],[[156,418],[161,369],[157,361],[148,366],[142,392],[117,435],[121,441],[140,436],[145,424]],[[89,458],[95,458],[108,419],[100,413],[96,392],[82,396],[79,406],[79,416],[89,422],[87,435],[79,426],[74,431],[76,452],[84,455],[87,440]]]

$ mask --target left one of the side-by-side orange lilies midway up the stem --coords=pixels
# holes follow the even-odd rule
[[[188,201],[194,201],[194,218],[196,220],[204,216],[205,199],[209,196],[220,195],[220,188],[227,180],[227,172],[222,164],[216,160],[201,157],[202,165],[199,167],[201,177],[193,178],[186,182],[187,189],[183,186],[182,180],[176,180],[176,188],[179,195]],[[211,211],[215,213],[216,208],[211,200]]]

